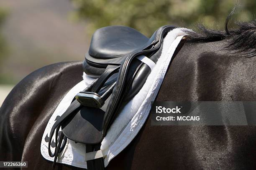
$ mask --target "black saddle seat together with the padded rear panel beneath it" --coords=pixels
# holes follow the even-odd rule
[[[84,72],[91,77],[99,77],[108,65],[120,65],[127,54],[146,49],[154,44],[154,39],[154,34],[148,38],[130,27],[100,28],[93,34],[85,54]]]

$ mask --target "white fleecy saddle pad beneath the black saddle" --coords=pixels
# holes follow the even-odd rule
[[[161,56],[158,62],[156,62],[156,67],[151,70],[151,73],[138,94],[123,107],[123,110],[120,111],[115,121],[110,126],[107,135],[102,140],[100,148],[102,155],[104,155],[105,167],[110,160],[131,143],[146,121],[151,109],[151,101],[155,100],[172,59],[172,55],[179,45],[179,42],[182,40],[182,37],[185,35],[184,29],[185,28],[176,28],[168,32],[163,42]],[[41,154],[46,160],[54,160],[48,153],[49,133],[52,125],[56,119],[67,110],[74,96],[95,80],[85,73],[83,79],[83,81],[75,85],[67,95],[64,96],[46,126],[41,141]],[[51,143],[51,147],[55,147],[55,142],[54,139],[54,142]],[[54,151],[54,148],[51,148],[51,150]],[[85,145],[74,143],[72,140],[68,139],[64,150],[59,154],[57,162],[79,168],[87,168],[86,158]]]

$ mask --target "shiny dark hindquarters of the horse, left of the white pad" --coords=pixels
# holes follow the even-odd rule
[[[43,160],[38,155],[44,128],[62,97],[81,80],[82,62],[48,65],[21,80],[0,108],[0,160]]]

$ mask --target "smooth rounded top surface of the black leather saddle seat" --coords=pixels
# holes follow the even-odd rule
[[[141,49],[148,43],[148,37],[125,26],[109,26],[95,31],[89,55],[97,59],[113,59]]]

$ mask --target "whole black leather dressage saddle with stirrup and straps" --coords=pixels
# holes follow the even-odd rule
[[[54,157],[53,169],[67,139],[85,144],[86,153],[100,150],[118,110],[141,89],[151,72],[151,63],[159,58],[154,54],[167,32],[174,28],[162,26],[150,38],[125,26],[95,31],[83,62],[84,72],[95,81],[74,97],[51,129],[48,149],[49,155]],[[52,153],[50,145],[54,132],[56,147]],[[103,170],[103,158],[87,160],[87,169]]]

